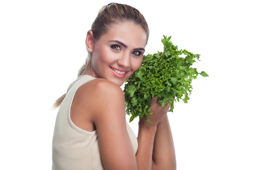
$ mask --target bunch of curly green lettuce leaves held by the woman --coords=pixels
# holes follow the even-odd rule
[[[199,60],[200,54],[182,49],[179,51],[170,41],[171,37],[163,37],[164,51],[144,55],[140,69],[125,81],[123,92],[126,113],[131,113],[130,122],[140,116],[150,124],[148,113],[153,114],[150,107],[154,96],[162,107],[164,101],[166,106],[171,103],[169,111],[173,112],[174,101],[180,102],[182,99],[185,103],[188,102],[192,92],[192,79],[196,79],[198,74],[208,77],[204,71],[198,73],[196,68],[191,68],[195,59]],[[181,54],[186,57],[180,57]]]

